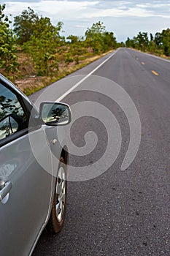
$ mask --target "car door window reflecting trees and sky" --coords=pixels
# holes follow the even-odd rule
[[[0,83],[0,140],[25,129],[26,113],[16,94]]]

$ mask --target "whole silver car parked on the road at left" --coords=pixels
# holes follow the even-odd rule
[[[62,126],[70,121],[68,105],[42,102],[37,111],[0,75],[1,255],[31,255],[47,222],[61,230],[68,164]]]

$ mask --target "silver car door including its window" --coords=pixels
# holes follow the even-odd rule
[[[28,102],[27,102],[28,103]],[[45,224],[53,176],[36,161],[31,141],[44,153],[45,126],[31,127],[30,109],[22,94],[0,80],[0,248],[1,255],[28,255]]]

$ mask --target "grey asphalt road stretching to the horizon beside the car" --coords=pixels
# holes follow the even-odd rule
[[[98,168],[92,169],[96,178],[69,181],[63,230],[53,236],[45,229],[34,256],[170,255],[170,61],[125,48],[120,48],[107,60],[109,56],[54,83],[42,96],[43,99],[55,100],[72,86],[77,86],[61,101],[69,103],[72,111],[82,113],[82,117],[72,124],[72,141],[81,149],[87,139],[92,150],[82,156],[71,152],[70,165],[80,170],[85,167],[83,171],[88,172],[91,165],[100,159],[102,162]],[[106,62],[98,67],[103,61]],[[92,71],[92,75],[85,76]],[[122,97],[117,91],[119,86],[127,93]],[[35,101],[42,92],[34,94],[31,99]],[[131,125],[138,124],[133,119],[134,107],[127,101],[127,95],[139,113],[142,132],[134,161],[121,170],[133,137]],[[77,102],[79,105],[73,108]],[[121,105],[124,102],[128,105],[123,111]],[[90,116],[92,110],[94,113]],[[117,121],[111,121],[110,113]],[[106,118],[106,125],[99,120],[100,116]],[[131,116],[134,123],[132,121],[130,125]],[[112,138],[109,138],[110,128]],[[85,138],[88,131],[96,133],[95,148],[93,140]],[[115,146],[103,159],[111,140]],[[135,148],[135,143],[133,145]],[[71,175],[72,180],[81,178],[74,175]]]

